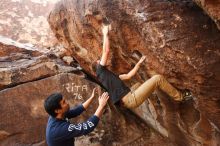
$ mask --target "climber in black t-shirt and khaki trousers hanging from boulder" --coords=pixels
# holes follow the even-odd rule
[[[103,48],[101,60],[97,60],[92,64],[93,70],[103,87],[109,93],[110,99],[114,104],[122,105],[126,108],[136,108],[140,106],[157,88],[167,93],[175,101],[186,101],[192,99],[190,91],[185,90],[181,92],[174,88],[162,75],[154,75],[138,88],[131,91],[123,80],[129,80],[133,77],[140,65],[146,59],[142,56],[134,68],[127,74],[116,75],[106,67],[108,56],[110,53],[110,41],[108,32],[111,25],[104,25],[102,28],[103,33]]]

